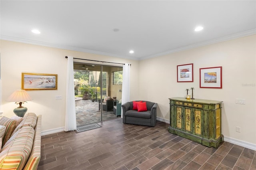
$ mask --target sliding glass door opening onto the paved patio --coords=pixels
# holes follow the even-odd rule
[[[122,67],[74,63],[77,127],[117,117],[114,106],[122,95],[118,71]]]

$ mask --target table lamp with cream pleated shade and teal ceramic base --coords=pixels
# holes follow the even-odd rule
[[[13,112],[18,117],[24,117],[25,113],[27,112],[28,108],[23,107],[22,103],[26,101],[30,101],[32,98],[28,95],[25,90],[16,90],[8,97],[6,101],[15,101],[15,103],[20,105],[19,107],[15,108]]]

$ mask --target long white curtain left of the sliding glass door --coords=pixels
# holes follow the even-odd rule
[[[67,84],[66,84],[66,121],[64,130],[76,130],[76,106],[74,89],[73,57],[68,56]]]

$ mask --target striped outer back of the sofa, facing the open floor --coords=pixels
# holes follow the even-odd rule
[[[24,170],[36,170],[38,167],[41,158],[41,123],[42,115],[38,115],[32,152]]]

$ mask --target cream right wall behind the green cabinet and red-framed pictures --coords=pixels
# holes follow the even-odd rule
[[[177,83],[177,65],[190,63],[194,82]],[[199,69],[218,66],[222,89],[200,88]],[[194,98],[223,101],[224,137],[256,144],[256,35],[146,59],[140,61],[139,73],[140,99],[158,103],[157,117],[170,121],[168,98],[185,97],[186,89],[194,87]],[[246,105],[235,104],[237,98]]]

